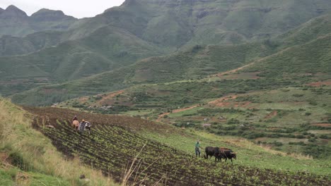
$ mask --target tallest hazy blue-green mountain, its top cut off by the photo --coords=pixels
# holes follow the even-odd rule
[[[86,24],[122,27],[165,46],[245,42],[282,32],[330,11],[326,0],[298,1],[125,1]],[[134,13],[132,13],[134,12]]]

